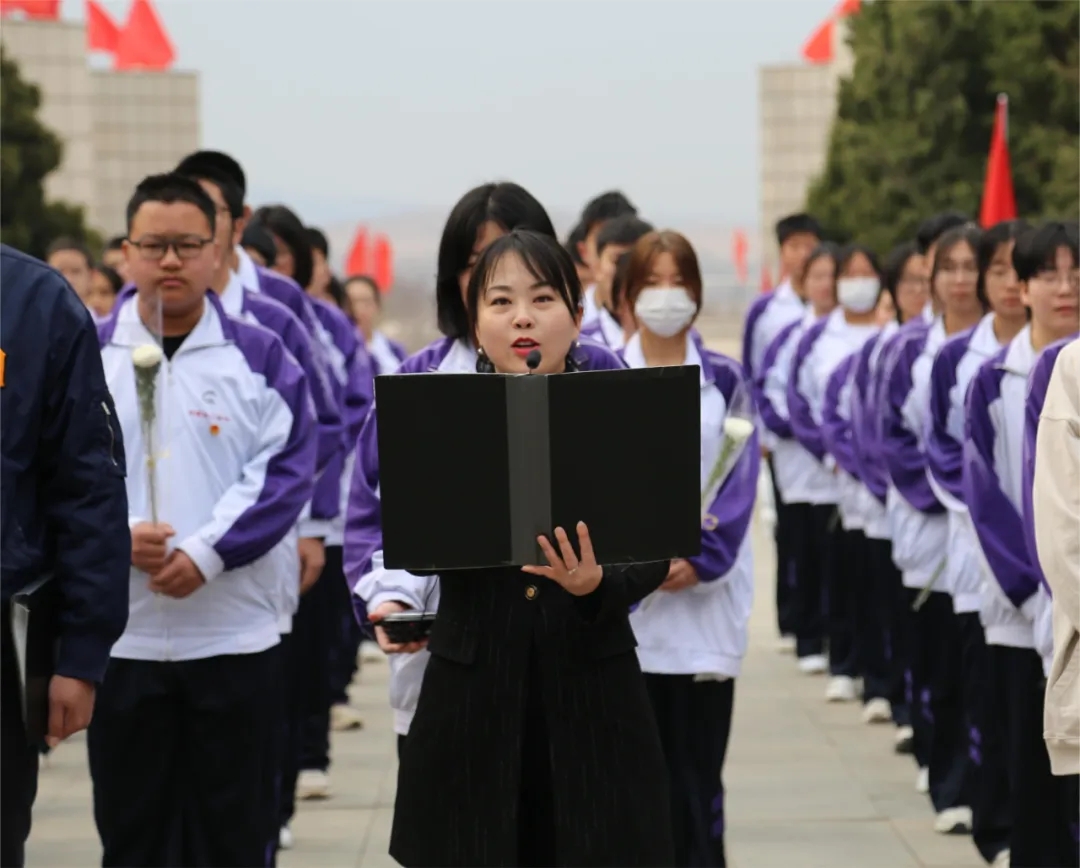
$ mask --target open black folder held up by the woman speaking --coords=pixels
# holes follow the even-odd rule
[[[375,380],[387,567],[546,564],[589,526],[600,564],[701,551],[698,367]]]

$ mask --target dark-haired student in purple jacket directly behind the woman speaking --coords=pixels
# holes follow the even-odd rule
[[[485,184],[470,190],[454,206],[438,245],[435,279],[438,327],[444,337],[406,358],[399,374],[475,372],[480,360],[465,307],[469,279],[484,250],[514,230],[530,230],[555,238],[543,205],[516,184]],[[541,353],[546,356],[542,350]],[[586,369],[622,367],[618,356],[588,341],[577,343],[573,356],[576,364]],[[373,622],[388,612],[401,611],[399,601],[403,599],[411,608],[435,611],[440,593],[437,577],[417,579],[382,568],[378,500],[372,503],[356,498],[359,492],[378,490],[378,464],[373,461],[370,458],[366,464],[357,461],[353,470],[353,494],[346,517],[346,578],[354,595],[367,601]],[[403,597],[406,593],[408,596]],[[366,614],[359,605],[357,613]],[[384,651],[391,652],[390,705],[394,709],[394,732],[401,747],[416,710],[428,652],[420,646],[394,646],[379,628],[376,628],[376,639]]]

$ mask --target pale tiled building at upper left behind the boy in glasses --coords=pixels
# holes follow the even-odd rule
[[[84,206],[106,236],[122,234],[135,185],[199,147],[198,74],[93,69],[81,22],[5,18],[0,40],[41,90],[40,118],[64,143],[45,194]]]

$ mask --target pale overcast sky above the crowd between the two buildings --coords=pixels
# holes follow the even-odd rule
[[[82,0],[64,0],[66,17]],[[103,3],[123,21],[129,0]],[[833,0],[158,0],[204,147],[314,222],[445,209],[510,178],[549,208],[756,221],[758,67]]]

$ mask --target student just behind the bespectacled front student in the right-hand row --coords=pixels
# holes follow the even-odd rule
[[[973,328],[942,345],[930,374],[930,426],[927,434],[928,478],[948,513],[948,560],[940,580],[951,597],[959,622],[962,655],[960,683],[968,720],[973,794],[972,836],[987,862],[1009,847],[1011,805],[1004,765],[1001,721],[990,699],[999,680],[980,618],[985,569],[963,492],[964,399],[978,368],[1024,327],[1026,311],[1012,267],[1013,242],[1026,225],[998,223],[980,239],[975,250],[976,294],[990,312]]]

